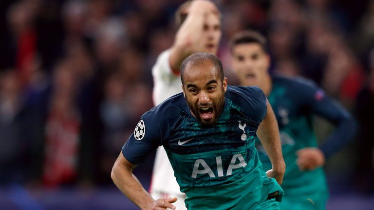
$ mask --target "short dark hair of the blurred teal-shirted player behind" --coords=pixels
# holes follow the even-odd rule
[[[250,31],[250,30],[239,32],[238,34],[234,35],[230,39],[230,42],[229,42],[230,52],[232,53],[234,50],[234,47],[239,44],[249,44],[249,43],[259,44],[262,50],[265,53],[268,53],[268,46],[267,46],[266,38],[260,33],[256,31]]]

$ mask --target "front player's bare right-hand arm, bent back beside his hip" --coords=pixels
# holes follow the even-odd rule
[[[262,120],[262,123],[259,125],[257,136],[259,137],[272,164],[272,169],[267,171],[266,174],[269,177],[274,177],[278,183],[281,184],[286,166],[282,156],[279,128],[273,109],[267,100],[266,106],[266,115]]]

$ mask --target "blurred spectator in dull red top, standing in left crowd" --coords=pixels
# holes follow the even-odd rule
[[[77,178],[80,116],[75,103],[77,81],[68,60],[56,66],[45,127],[43,182],[74,183]]]

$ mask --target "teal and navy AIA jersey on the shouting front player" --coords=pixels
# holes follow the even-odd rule
[[[202,126],[177,94],[142,116],[122,153],[139,164],[163,145],[188,209],[256,209],[282,196],[275,179],[262,171],[255,148],[265,114],[260,88],[228,86],[217,123]]]

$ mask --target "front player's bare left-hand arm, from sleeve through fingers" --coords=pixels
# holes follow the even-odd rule
[[[122,152],[119,154],[112,168],[112,180],[118,189],[123,192],[134,204],[142,210],[166,210],[175,209],[171,204],[177,198],[154,200],[143,188],[139,180],[132,174],[137,165],[129,162]]]

